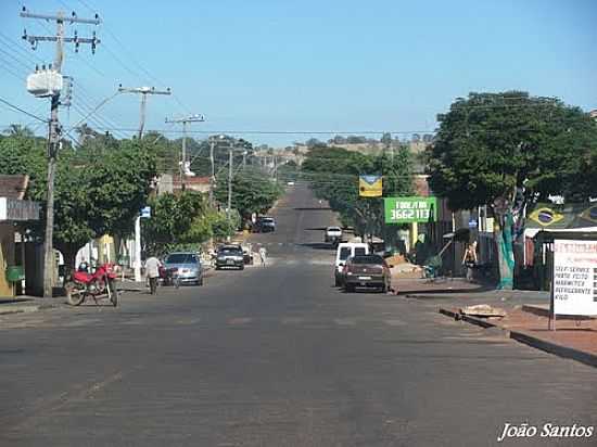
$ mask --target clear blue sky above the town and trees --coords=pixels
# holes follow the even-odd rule
[[[20,36],[54,25],[21,18],[23,4],[79,16],[97,10],[104,21],[96,55],[66,53],[63,73],[77,84],[64,123],[120,82],[173,89],[175,98],[153,97],[148,106],[147,128],[167,130],[179,128],[165,117],[203,113],[206,123],[193,129],[431,131],[455,98],[510,89],[597,108],[594,0],[2,0],[0,98],[43,116],[48,101],[31,98],[22,78],[36,58],[51,62],[54,48],[34,52]],[[76,26],[79,36],[93,28]],[[132,129],[138,120],[139,98],[119,95],[90,124]],[[31,119],[0,104],[0,126],[11,123]],[[284,145],[312,136],[243,137]]]

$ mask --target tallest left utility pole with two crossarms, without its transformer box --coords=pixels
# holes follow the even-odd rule
[[[92,38],[80,38],[75,30],[74,37],[64,36],[64,23],[68,24],[81,23],[89,25],[99,25],[101,23],[100,17],[96,14],[94,18],[79,18],[73,12],[71,16],[66,16],[62,11],[59,11],[55,15],[50,14],[33,14],[27,11],[25,7],[21,12],[21,16],[24,18],[37,18],[47,22],[55,22],[56,34],[55,36],[28,36],[27,31],[23,33],[23,39],[27,40],[31,48],[35,50],[37,43],[41,41],[55,42],[56,54],[52,71],[60,74],[62,71],[62,63],[64,61],[64,42],[75,43],[75,51],[78,52],[81,43],[91,44],[91,52],[96,52],[96,46],[100,43],[100,39],[96,37],[93,31]],[[43,297],[52,297],[53,280],[54,280],[54,181],[56,174],[56,159],[60,148],[61,126],[59,122],[59,106],[60,106],[60,90],[52,92],[50,95],[50,123],[48,130],[48,177],[47,177],[47,197],[46,197],[46,239],[43,241]]]

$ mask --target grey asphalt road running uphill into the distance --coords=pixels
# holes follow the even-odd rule
[[[252,237],[266,267],[2,317],[0,445],[477,447],[505,423],[597,425],[595,369],[433,304],[344,294],[318,230],[332,214],[297,186],[274,215]]]

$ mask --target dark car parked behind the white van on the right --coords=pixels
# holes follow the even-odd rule
[[[344,290],[354,292],[356,288],[390,290],[392,273],[380,255],[352,256],[344,266]]]

